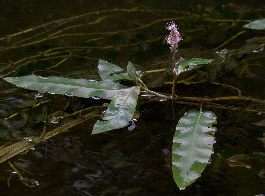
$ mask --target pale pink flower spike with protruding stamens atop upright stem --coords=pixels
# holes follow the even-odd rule
[[[168,24],[168,27],[165,26],[168,30],[170,30],[169,36],[167,36],[165,39],[167,40],[167,43],[171,45],[170,50],[173,53],[176,53],[178,50],[178,42],[180,40],[183,40],[182,37],[180,37],[180,34],[178,32],[178,28],[176,27],[175,22],[171,22],[171,24]],[[165,41],[164,41],[165,42]]]

